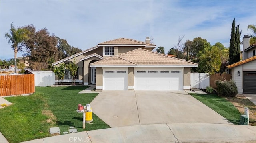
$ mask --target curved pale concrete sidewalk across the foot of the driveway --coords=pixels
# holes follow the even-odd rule
[[[24,143],[255,143],[255,131],[256,127],[249,125],[168,123],[84,131]]]

